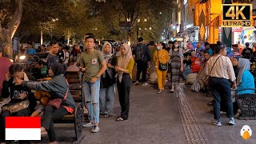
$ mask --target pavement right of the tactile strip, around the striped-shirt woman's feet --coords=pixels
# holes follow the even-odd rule
[[[256,143],[256,122],[253,120],[238,120],[235,119],[235,125],[229,126],[227,124],[228,118],[225,114],[222,114],[222,126],[214,126],[212,121],[214,115],[210,113],[212,106],[206,104],[213,98],[206,97],[205,94],[194,93],[190,91],[190,86],[183,86],[186,91],[186,97],[190,102],[190,106],[194,111],[194,115],[198,118],[198,124],[205,131],[206,137],[211,144],[233,144],[233,143]],[[240,135],[242,126],[249,125],[253,134],[248,140],[244,140]]]

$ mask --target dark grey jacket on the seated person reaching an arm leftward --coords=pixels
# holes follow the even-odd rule
[[[23,86],[26,86],[32,90],[44,90],[48,91],[51,95],[51,98],[64,98],[66,94],[67,84],[66,84],[66,78],[62,75],[54,76],[50,81],[45,82],[22,82]],[[66,100],[62,102],[62,106],[68,106],[74,109],[75,102],[74,98],[70,93],[70,90],[68,92],[68,95],[66,97]]]

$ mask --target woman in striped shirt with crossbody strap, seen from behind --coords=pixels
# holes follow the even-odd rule
[[[220,116],[220,102],[224,100],[227,107],[227,116],[230,118],[229,124],[234,125],[233,103],[231,99],[231,83],[235,90],[237,84],[235,81],[234,69],[230,58],[226,57],[226,46],[222,43],[214,49],[214,55],[206,64],[206,75],[209,76],[210,90],[214,94],[214,125],[222,126]]]

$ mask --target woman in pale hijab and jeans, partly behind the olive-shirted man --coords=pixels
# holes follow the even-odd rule
[[[109,42],[102,46],[102,53],[107,63],[107,69],[102,74],[101,88],[99,90],[100,115],[103,118],[108,118],[112,115],[114,109],[114,84],[116,82],[114,66],[116,65],[116,57],[114,57],[113,51]]]

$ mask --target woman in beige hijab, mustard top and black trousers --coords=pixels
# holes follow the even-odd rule
[[[130,109],[130,86],[132,82],[134,58],[128,44],[122,44],[120,51],[121,56],[118,57],[115,70],[118,72],[118,97],[122,112],[121,115],[118,116],[117,121],[124,121],[128,119]]]

